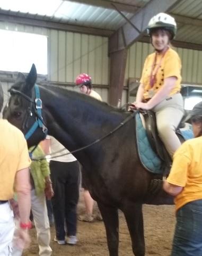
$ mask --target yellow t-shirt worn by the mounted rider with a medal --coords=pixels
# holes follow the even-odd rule
[[[164,79],[168,77],[177,77],[176,84],[171,90],[169,96],[179,92],[181,89],[181,61],[178,53],[175,52],[172,48],[169,48],[168,51],[166,51],[163,59],[162,54],[157,53],[156,65],[154,66],[154,69],[160,63],[161,59],[162,61],[159,69],[156,72],[156,81],[153,87],[150,86],[151,69],[155,59],[155,54],[156,53],[152,53],[147,56],[144,63],[142,77],[140,79],[140,83],[144,85],[143,97],[145,99],[151,98],[152,95],[154,95],[163,86]]]

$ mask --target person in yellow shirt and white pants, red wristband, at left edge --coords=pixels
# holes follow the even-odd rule
[[[3,89],[0,84],[0,111],[3,107]],[[7,120],[0,119],[0,255],[11,255],[13,245],[23,249],[29,244],[30,216],[30,158],[27,142],[22,132]],[[14,190],[18,207],[12,200]],[[18,209],[20,228],[14,244],[14,214]]]

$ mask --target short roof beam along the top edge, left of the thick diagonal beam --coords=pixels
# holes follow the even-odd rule
[[[88,4],[92,6],[98,6],[98,7],[103,7],[105,9],[113,9],[113,10],[115,10],[115,7],[113,5],[116,5],[120,11],[125,11],[129,13],[135,13],[140,7],[134,4],[127,4],[124,0],[119,2],[108,1],[108,0],[63,0],[63,1],[77,2],[81,4]]]

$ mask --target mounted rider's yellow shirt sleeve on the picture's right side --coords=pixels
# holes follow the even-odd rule
[[[177,77],[181,78],[181,60],[175,51],[165,55],[164,78]]]

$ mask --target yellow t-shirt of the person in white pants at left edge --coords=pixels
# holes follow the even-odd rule
[[[31,164],[22,132],[7,120],[0,120],[0,200],[13,197],[15,174]]]

